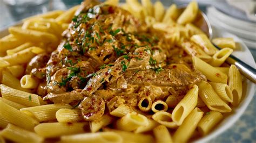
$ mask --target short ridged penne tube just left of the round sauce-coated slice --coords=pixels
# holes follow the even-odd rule
[[[59,109],[56,112],[56,119],[59,123],[72,123],[84,120],[79,109]]]

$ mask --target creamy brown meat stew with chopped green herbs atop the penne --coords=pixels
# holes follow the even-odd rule
[[[205,76],[194,71],[191,56],[164,34],[116,6],[85,1],[47,63],[41,59],[45,68],[32,66],[31,72],[35,67],[45,70],[44,100],[80,101],[86,120],[95,120],[120,104],[137,106],[145,96],[163,100],[182,96]]]

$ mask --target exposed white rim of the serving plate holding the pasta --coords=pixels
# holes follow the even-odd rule
[[[16,25],[21,25],[21,23],[18,23]],[[0,37],[4,37],[7,34],[8,34],[7,28],[0,31]],[[235,42],[238,42],[240,44],[241,48],[239,49],[239,51],[234,51],[233,54],[235,56],[237,56],[239,59],[241,59],[242,61],[246,62],[248,65],[255,67],[255,62],[254,62],[251,52],[246,47],[244,42],[242,40],[240,40],[237,36],[227,33],[223,30],[215,29],[213,27],[213,37],[232,37],[232,38],[234,38]],[[252,100],[252,98],[254,96],[255,84],[249,80],[245,80],[243,87],[244,87],[243,97],[242,97],[242,101],[239,104],[239,106],[236,108],[233,108],[232,114],[225,117],[224,120],[221,121],[221,123],[217,127],[215,127],[214,131],[212,131],[210,134],[206,135],[205,137],[196,140],[196,142],[207,142],[207,141],[210,141],[211,139],[214,139],[219,134],[226,131],[229,127],[231,127],[235,123],[235,121],[237,121],[239,119],[239,117],[245,111],[245,109],[247,108],[248,104],[250,103],[250,101]]]

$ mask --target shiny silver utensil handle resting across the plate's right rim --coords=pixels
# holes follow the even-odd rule
[[[216,48],[221,49],[217,45],[213,44]],[[252,82],[256,83],[256,70],[255,68],[249,66],[247,63],[241,61],[237,57],[233,56],[232,54],[226,60],[229,64],[235,65],[240,73],[247,77]]]

